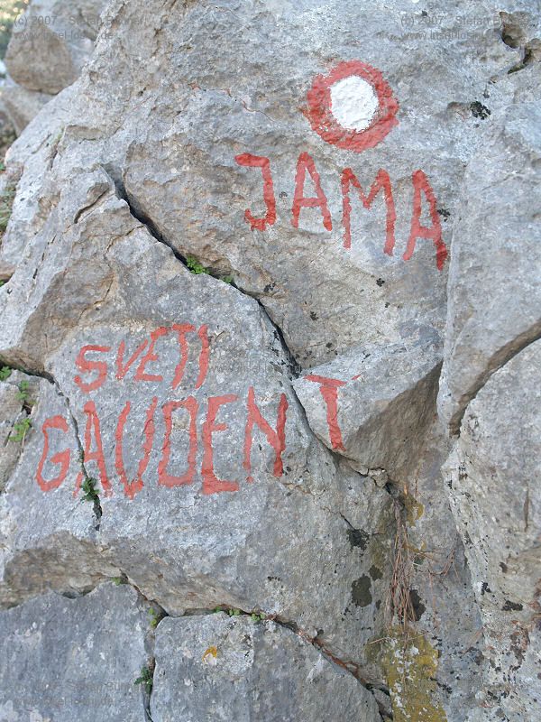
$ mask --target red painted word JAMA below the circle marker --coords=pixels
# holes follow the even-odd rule
[[[250,208],[246,208],[244,218],[250,224],[252,230],[264,231],[266,228],[276,223],[276,198],[274,195],[274,183],[271,173],[271,161],[262,155],[252,155],[252,153],[242,153],[235,156],[235,162],[247,168],[261,169],[263,181],[263,200],[267,208],[267,212],[262,218],[255,218]],[[316,195],[305,196],[305,182],[307,173],[312,180]],[[436,246],[436,266],[441,271],[447,257],[447,248],[442,238],[442,226],[437,212],[437,200],[434,190],[430,186],[430,182],[424,171],[415,171],[411,180],[413,183],[413,208],[411,214],[411,226],[408,237],[408,245],[403,255],[403,259],[408,261],[413,252],[417,238],[431,239]],[[352,230],[351,230],[351,190],[352,187],[357,191],[362,206],[370,209],[380,191],[383,191],[386,206],[386,238],[383,246],[383,253],[393,255],[395,246],[395,224],[397,214],[395,210],[395,202],[390,182],[390,176],[387,171],[380,170],[377,172],[374,181],[371,184],[368,194],[362,189],[362,185],[353,173],[351,168],[344,168],[341,174],[340,187],[342,190],[342,227],[344,232],[344,248],[352,247]],[[428,204],[428,212],[432,222],[431,226],[423,226],[421,223],[423,197]],[[321,213],[323,227],[327,231],[333,230],[333,220],[328,207],[325,191],[321,186],[319,173],[316,169],[314,159],[308,153],[300,153],[297,162],[297,171],[295,174],[295,191],[293,194],[293,205],[291,207],[291,226],[298,228],[298,219],[302,208],[319,208]]]

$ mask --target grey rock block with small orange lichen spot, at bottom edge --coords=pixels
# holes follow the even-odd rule
[[[155,654],[154,722],[380,719],[351,674],[273,622],[224,614],[164,619]]]

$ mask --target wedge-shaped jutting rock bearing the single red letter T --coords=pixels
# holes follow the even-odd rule
[[[427,337],[427,338],[426,338]],[[362,473],[385,470],[408,483],[432,421],[441,366],[439,338],[354,347],[295,382],[310,427]]]

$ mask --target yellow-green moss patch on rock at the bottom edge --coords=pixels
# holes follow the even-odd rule
[[[436,701],[438,654],[426,636],[410,629],[406,637],[397,626],[382,647],[394,722],[446,722]]]

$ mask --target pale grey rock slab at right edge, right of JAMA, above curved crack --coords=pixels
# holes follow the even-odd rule
[[[540,102],[509,106],[464,179],[440,393],[452,430],[490,375],[541,336],[540,129]]]

